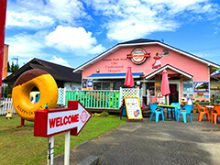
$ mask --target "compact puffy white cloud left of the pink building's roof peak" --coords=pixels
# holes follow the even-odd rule
[[[91,32],[83,27],[57,26],[46,37],[46,44],[62,52],[72,52],[79,56],[99,53],[105,48],[98,45]]]

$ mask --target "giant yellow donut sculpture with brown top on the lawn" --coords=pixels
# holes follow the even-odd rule
[[[30,92],[34,87],[40,91],[40,99],[36,104],[30,101]],[[32,69],[21,74],[12,90],[12,101],[16,112],[21,118],[29,121],[34,121],[34,111],[43,110],[46,104],[48,108],[54,108],[57,98],[56,81],[41,69]]]

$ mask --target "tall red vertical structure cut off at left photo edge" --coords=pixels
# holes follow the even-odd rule
[[[5,20],[7,0],[0,0],[0,99],[2,95],[2,68],[4,56]]]

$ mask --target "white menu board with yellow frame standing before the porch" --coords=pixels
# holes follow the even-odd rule
[[[125,106],[127,117],[130,120],[142,120],[142,111],[140,107],[140,99],[138,97],[126,97]]]

